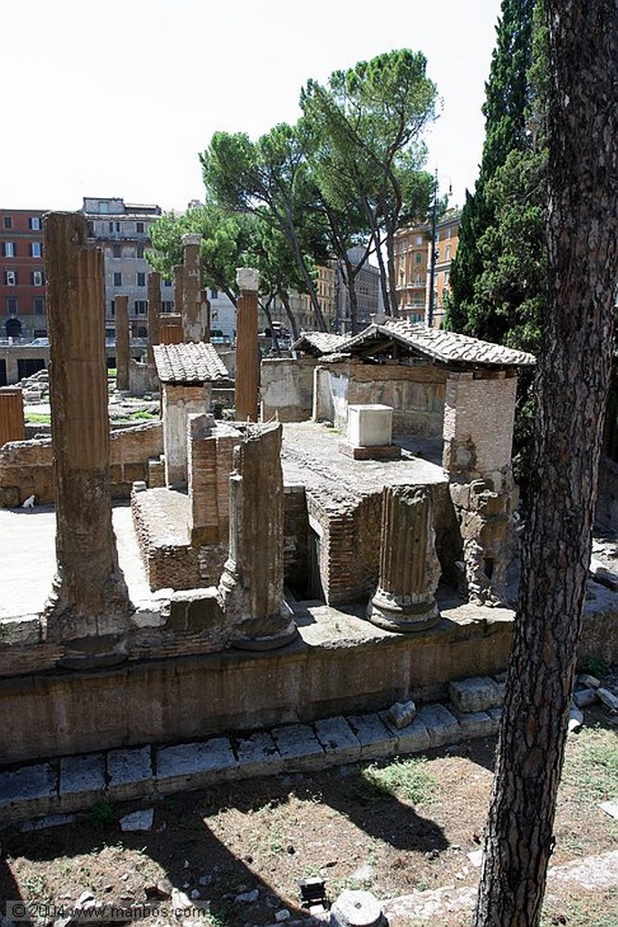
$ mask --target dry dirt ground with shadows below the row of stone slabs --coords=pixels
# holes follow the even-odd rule
[[[617,733],[597,708],[570,735],[554,865],[618,847],[618,821],[599,808],[618,799]],[[121,830],[120,817],[135,803],[94,806],[41,832],[12,828],[0,833],[0,896],[57,906],[84,893],[108,905],[149,898],[159,910],[144,921],[148,927],[205,920],[239,927],[283,922],[284,911],[292,920],[306,915],[299,880],[310,876],[325,879],[330,899],[345,888],[385,899],[474,885],[479,870],[468,854],[481,848],[495,746],[495,739],[477,740],[426,758],[173,795],[154,804],[148,832]],[[207,901],[208,918],[196,911],[174,920],[169,908],[183,895],[173,888],[196,906]],[[52,913],[39,908],[32,920],[61,924]],[[544,922],[617,927],[618,896],[573,886],[551,900]]]

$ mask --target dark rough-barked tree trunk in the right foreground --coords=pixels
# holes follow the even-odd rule
[[[618,5],[545,0],[547,311],[532,511],[477,927],[536,927],[590,559],[618,274]]]

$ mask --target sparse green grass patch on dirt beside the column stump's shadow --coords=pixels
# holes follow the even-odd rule
[[[427,768],[424,756],[395,760],[386,766],[372,763],[351,782],[350,794],[360,804],[371,804],[380,798],[403,798],[411,805],[431,802],[438,781]]]

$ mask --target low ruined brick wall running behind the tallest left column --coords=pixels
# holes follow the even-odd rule
[[[148,458],[163,450],[160,422],[122,428],[109,434],[111,495],[128,499],[135,480],[148,480]],[[0,506],[11,508],[34,495],[54,502],[51,438],[13,441],[0,448]]]

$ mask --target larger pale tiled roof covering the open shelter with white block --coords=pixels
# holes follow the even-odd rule
[[[427,328],[404,319],[386,319],[380,324],[371,324],[358,335],[345,340],[338,350],[354,354],[360,349],[367,349],[372,343],[379,345],[385,340],[396,341],[411,353],[439,363],[483,367],[521,367],[535,363],[534,355],[526,351],[505,348],[456,332]]]

